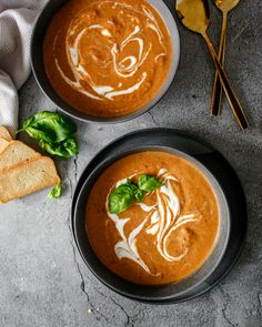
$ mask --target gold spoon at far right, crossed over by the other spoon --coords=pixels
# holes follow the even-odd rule
[[[228,27],[228,13],[239,4],[240,0],[214,0],[215,6],[223,13],[222,30],[220,38],[220,48],[219,48],[219,61],[224,67],[224,55],[225,55],[225,39],[226,39],[226,27]],[[219,72],[215,72],[213,94],[211,99],[210,113],[212,115],[218,115],[221,109],[222,101],[222,85],[219,79]]]

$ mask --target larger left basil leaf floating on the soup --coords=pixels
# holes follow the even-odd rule
[[[135,195],[132,185],[127,183],[115,187],[109,196],[110,213],[120,214],[124,212],[132,204]]]

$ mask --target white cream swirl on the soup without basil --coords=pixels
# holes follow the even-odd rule
[[[54,52],[54,61],[57,69],[61,75],[61,78],[64,80],[67,84],[69,84],[72,89],[75,91],[91,98],[98,101],[103,100],[110,100],[113,101],[117,96],[131,94],[135,91],[138,91],[143,82],[147,80],[147,72],[140,70],[143,62],[149,57],[149,53],[152,50],[152,44],[150,42],[147,42],[147,39],[143,38],[143,30],[149,28],[155,34],[158,35],[159,43],[161,45],[161,52],[158,53],[154,58],[154,62],[159,60],[159,58],[167,55],[167,47],[164,44],[164,38],[161,32],[161,29],[158,24],[158,20],[151,12],[149,8],[145,6],[142,6],[142,11],[135,10],[132,8],[132,6],[121,3],[118,1],[103,1],[99,3],[99,8],[102,10],[102,6],[112,3],[113,9],[121,8],[122,14],[125,13],[125,16],[130,19],[130,21],[135,25],[133,28],[133,31],[120,43],[115,43],[114,35],[112,31],[110,30],[110,24],[112,25],[112,21],[110,19],[108,21],[99,21],[92,22],[92,24],[87,25],[88,22],[88,16],[84,17],[84,23],[85,27],[83,28],[81,25],[81,19],[75,21],[73,20],[70,24],[70,28],[67,32],[66,37],[66,50],[67,50],[67,59],[68,63],[70,65],[70,69],[73,73],[73,79],[69,78],[66,72],[63,71],[62,65],[59,63],[59,59],[56,57]],[[142,16],[142,19],[141,19]],[[141,23],[141,20],[143,23]],[[145,21],[145,23],[144,23]],[[140,25],[141,24],[141,25]],[[105,37],[109,44],[109,54],[111,54],[111,61],[107,63],[107,68],[112,64],[113,71],[115,73],[115,76],[118,76],[119,81],[117,85],[104,85],[104,84],[97,84],[94,82],[95,78],[90,75],[90,72],[88,70],[88,62],[92,60],[91,55],[89,59],[83,59],[81,55],[80,50],[80,43],[81,42],[88,42],[90,38],[90,33],[93,33],[95,31],[100,31],[100,34],[102,37]],[[56,37],[53,48],[56,49],[57,40],[59,37],[59,32]],[[75,38],[74,38],[75,37]],[[97,34],[95,34],[97,37]],[[99,35],[98,35],[99,37]],[[72,43],[72,38],[74,38],[74,42]],[[138,47],[138,57],[133,54],[128,54],[124,58],[122,58],[122,53],[128,44],[132,42],[132,49],[137,49]],[[95,49],[95,44],[93,44],[93,48]],[[103,63],[99,62],[98,64],[100,67],[105,67]],[[130,85],[127,82],[123,82],[123,79],[125,81],[129,81],[129,78],[139,74],[135,79],[135,83]],[[87,88],[87,83],[89,84],[89,88]]]

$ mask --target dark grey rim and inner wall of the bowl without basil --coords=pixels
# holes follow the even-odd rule
[[[58,10],[60,8],[62,8],[70,0],[59,0],[59,1],[60,1],[60,3],[57,4],[59,7]],[[145,0],[145,1],[148,1],[159,12],[159,10],[155,8],[154,3],[152,3],[152,2],[154,2],[154,0]],[[92,123],[104,123],[104,124],[117,124],[117,123],[130,121],[132,119],[135,119],[135,117],[142,115],[143,113],[145,113],[149,110],[151,110],[152,108],[154,108],[165,96],[169,89],[173,84],[175,74],[179,69],[180,57],[181,57],[181,42],[180,42],[180,33],[179,33],[178,24],[174,19],[174,14],[172,13],[169,6],[167,4],[165,0],[161,0],[161,4],[159,4],[159,6],[161,6],[163,8],[163,10],[167,12],[169,18],[167,18],[164,14],[162,14],[160,12],[159,12],[159,14],[161,16],[163,22],[165,23],[168,31],[170,32],[172,50],[173,50],[173,52],[175,51],[175,55],[173,55],[173,53],[172,53],[173,58],[171,61],[170,71],[169,71],[161,89],[158,91],[158,93],[154,95],[154,98],[149,103],[143,105],[141,109],[139,109],[134,112],[131,112],[127,115],[112,116],[112,117],[95,116],[95,115],[90,115],[88,113],[83,113],[83,112],[74,109],[70,104],[68,104],[66,101],[63,101],[59,96],[59,94],[54,91],[54,89],[52,88],[52,85],[46,74],[46,70],[44,70],[44,65],[43,65],[42,41],[43,41],[44,34],[46,34],[47,28],[50,23],[50,20],[53,18],[53,14],[56,14],[56,12],[58,11],[58,10],[56,10],[50,18],[46,19],[46,14],[48,14],[48,12],[50,10],[52,10],[54,2],[58,2],[58,0],[49,0],[44,4],[44,7],[42,8],[41,12],[39,13],[39,16],[36,20],[33,31],[32,31],[31,41],[30,41],[30,63],[31,63],[33,76],[37,81],[37,84],[39,85],[39,88],[41,89],[43,94],[58,109],[60,109],[64,114],[73,117],[73,119],[77,119],[79,121],[92,122]],[[173,24],[172,31],[169,28],[170,23]],[[44,24],[46,28],[43,28],[42,24]],[[41,41],[39,41],[39,34],[42,35]],[[174,49],[174,47],[175,47],[175,49]],[[38,51],[40,51],[40,55],[37,55]]]

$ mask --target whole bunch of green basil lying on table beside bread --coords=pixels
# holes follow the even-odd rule
[[[39,145],[51,155],[69,159],[79,153],[74,137],[77,126],[59,113],[39,112],[23,122],[18,133],[22,131],[39,140]]]

